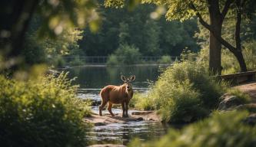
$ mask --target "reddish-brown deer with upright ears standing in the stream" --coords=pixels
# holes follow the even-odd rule
[[[135,75],[126,78],[121,75],[121,80],[124,82],[121,86],[108,85],[101,89],[99,93],[101,96],[101,105],[98,106],[99,116],[102,116],[102,109],[108,103],[108,112],[111,116],[115,116],[112,113],[113,104],[121,104],[122,117],[128,117],[128,104],[133,96],[133,90],[131,82],[135,80]]]

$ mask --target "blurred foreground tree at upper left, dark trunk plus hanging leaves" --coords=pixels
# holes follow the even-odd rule
[[[20,57],[25,32],[34,14],[42,19],[39,34],[55,37],[67,28],[98,28],[99,17],[94,0],[81,1],[39,1],[39,0],[3,0],[0,2],[0,50],[5,60]]]

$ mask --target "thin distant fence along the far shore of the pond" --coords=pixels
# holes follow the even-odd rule
[[[71,60],[81,60],[85,62],[86,64],[106,64],[109,57],[107,56],[65,56],[62,57],[67,63],[69,63]],[[117,57],[117,58],[124,58],[124,57]],[[142,61],[145,61],[146,63],[157,63],[158,60],[161,59],[161,56],[155,56],[155,57],[140,57],[139,58]],[[171,60],[180,60],[180,57],[171,57]],[[138,64],[141,64],[138,63]]]

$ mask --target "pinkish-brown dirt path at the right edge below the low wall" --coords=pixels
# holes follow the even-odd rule
[[[235,88],[238,88],[244,93],[248,93],[252,98],[252,103],[256,103],[256,82],[239,85]]]

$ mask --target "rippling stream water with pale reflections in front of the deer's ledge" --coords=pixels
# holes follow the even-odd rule
[[[129,123],[112,123],[107,126],[95,126],[88,132],[89,144],[113,143],[127,145],[131,139],[159,139],[166,133],[161,123],[141,121]]]

